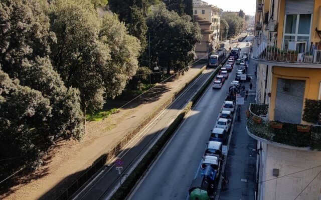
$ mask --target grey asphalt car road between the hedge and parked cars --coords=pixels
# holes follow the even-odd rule
[[[243,47],[241,53],[248,51],[245,44],[240,42],[239,47]],[[235,65],[221,89],[212,89],[211,86],[206,89],[129,199],[187,199],[191,182],[200,170],[210,130],[215,125],[236,70]]]

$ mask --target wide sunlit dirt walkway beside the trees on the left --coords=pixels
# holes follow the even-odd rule
[[[72,182],[81,171],[90,166],[100,155],[107,152],[132,127],[167,96],[177,91],[192,76],[199,72],[204,63],[197,64],[188,72],[165,83],[162,91],[152,91],[153,96],[137,99],[120,112],[101,121],[87,122],[86,134],[80,141],[62,141],[52,149],[44,165],[35,171],[29,180],[12,188],[11,193],[0,195],[0,199],[52,199],[55,195],[47,193],[58,183]],[[137,103],[137,101],[141,103]],[[27,182],[27,183],[26,183]],[[59,187],[59,185],[58,185]]]

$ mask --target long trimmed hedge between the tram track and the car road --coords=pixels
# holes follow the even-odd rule
[[[205,84],[201,87],[201,89],[194,95],[191,101],[187,103],[183,111],[176,117],[173,123],[168,127],[168,129],[164,132],[161,138],[155,143],[155,145],[148,151],[148,153],[143,157],[143,159],[138,163],[136,168],[129,174],[126,180],[121,184],[121,186],[117,189],[117,191],[111,197],[112,200],[120,200],[125,199],[129,194],[131,189],[135,186],[136,182],[143,175],[145,170],[148,168],[149,164],[155,159],[157,154],[161,152],[162,148],[165,146],[167,141],[174,134],[175,130],[183,121],[186,114],[192,109],[193,105],[197,102],[197,100],[201,97],[202,93],[206,90],[208,85],[212,82],[215,75],[218,73],[220,67],[218,67],[210,78],[205,82]]]

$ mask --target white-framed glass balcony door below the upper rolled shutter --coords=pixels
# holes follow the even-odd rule
[[[305,41],[305,43],[296,45],[296,49],[290,50],[299,52],[308,50],[310,45],[311,14],[286,14],[284,18],[283,49],[293,48],[293,45],[289,45],[289,42]]]

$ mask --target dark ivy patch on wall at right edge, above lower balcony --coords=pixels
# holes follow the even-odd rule
[[[304,113],[302,120],[311,123],[317,123],[321,113],[321,100],[305,99]]]

